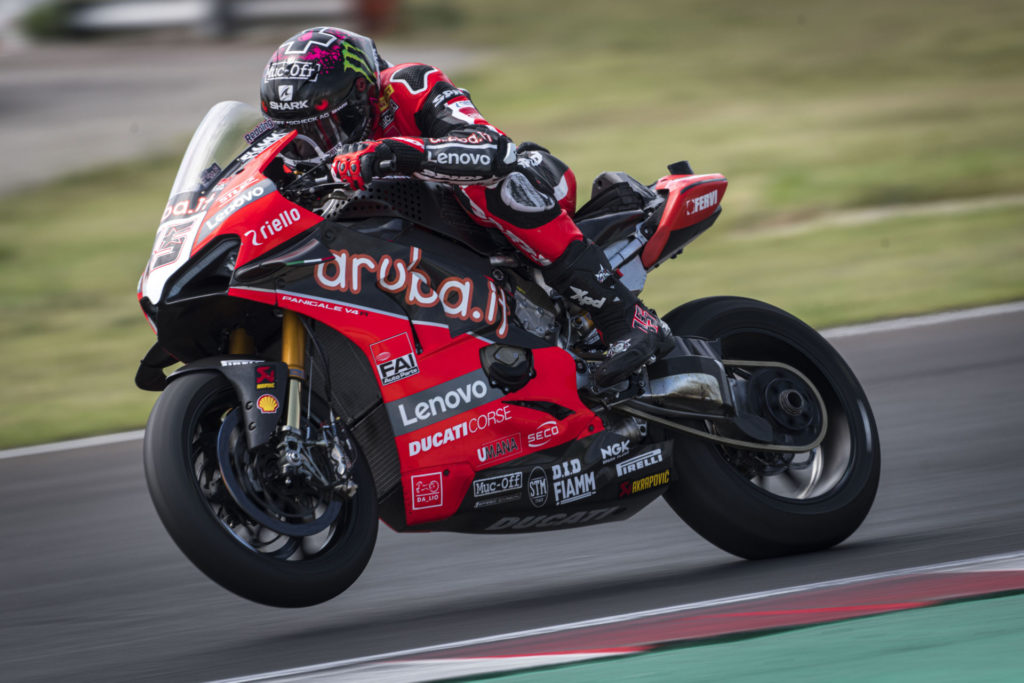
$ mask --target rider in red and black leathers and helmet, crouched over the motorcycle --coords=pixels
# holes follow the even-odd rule
[[[594,372],[599,386],[674,347],[668,326],[572,221],[568,167],[539,145],[517,148],[439,70],[391,66],[365,36],[311,28],[271,55],[260,102],[278,126],[298,130],[311,156],[334,155],[334,178],[352,188],[385,175],[457,185],[475,222],[501,230],[552,289],[590,313],[608,345]]]

